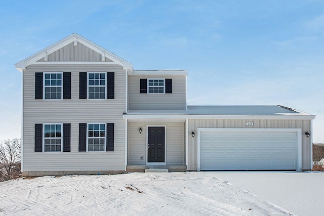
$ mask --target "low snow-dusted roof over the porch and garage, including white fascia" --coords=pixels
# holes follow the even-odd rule
[[[187,110],[129,110],[129,122],[184,122],[186,119],[312,120],[311,115],[283,106],[188,106]]]

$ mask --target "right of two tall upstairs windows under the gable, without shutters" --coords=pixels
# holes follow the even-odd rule
[[[88,73],[88,98],[106,98],[106,73]]]

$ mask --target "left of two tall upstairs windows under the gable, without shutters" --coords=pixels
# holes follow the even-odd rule
[[[62,73],[45,73],[44,99],[62,99]]]

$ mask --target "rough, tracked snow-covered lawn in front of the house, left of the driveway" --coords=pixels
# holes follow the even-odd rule
[[[0,183],[0,215],[290,214],[217,176],[171,172],[12,180]]]

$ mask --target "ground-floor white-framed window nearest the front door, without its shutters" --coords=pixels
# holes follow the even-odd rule
[[[88,151],[105,151],[105,123],[88,124]]]

